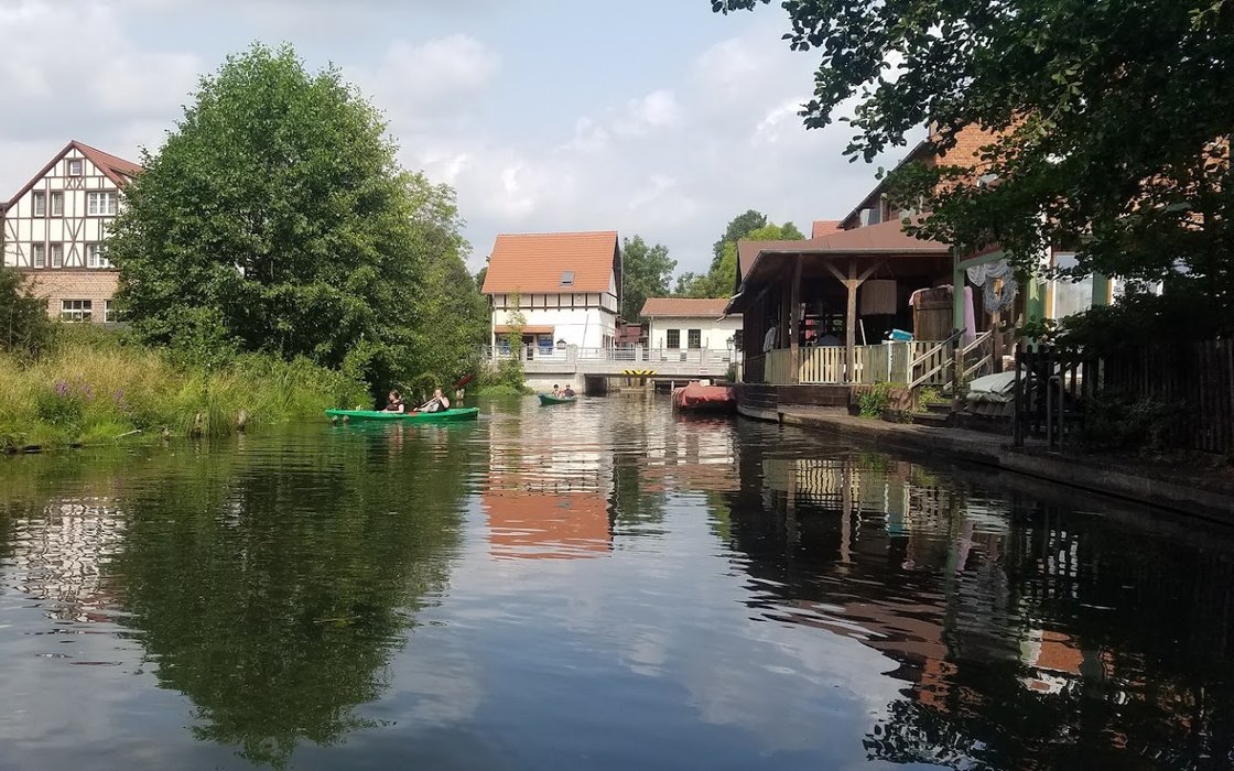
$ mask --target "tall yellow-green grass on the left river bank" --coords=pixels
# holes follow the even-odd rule
[[[35,361],[0,354],[0,450],[120,437],[217,437],[368,403],[365,384],[305,359],[257,354],[221,366],[173,361],[99,332],[65,332]]]

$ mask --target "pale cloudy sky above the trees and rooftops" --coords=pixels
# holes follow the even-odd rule
[[[454,185],[473,268],[499,232],[617,229],[703,269],[758,208],[808,231],[877,164],[795,115],[817,58],[775,4],[708,0],[0,0],[0,197],[70,139],[155,149],[201,73],[253,41],[334,63],[401,160]]]

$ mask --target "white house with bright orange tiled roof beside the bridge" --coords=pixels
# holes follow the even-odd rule
[[[492,307],[491,340],[503,344],[522,316],[532,355],[570,345],[610,348],[622,291],[615,231],[502,233],[489,257],[481,292]]]

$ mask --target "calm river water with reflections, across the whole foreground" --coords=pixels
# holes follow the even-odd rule
[[[1227,769],[1234,538],[663,398],[0,461],[0,769]]]

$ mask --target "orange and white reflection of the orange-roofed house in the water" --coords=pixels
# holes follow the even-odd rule
[[[480,501],[494,556],[578,559],[610,551],[610,455],[579,439],[490,444]]]

